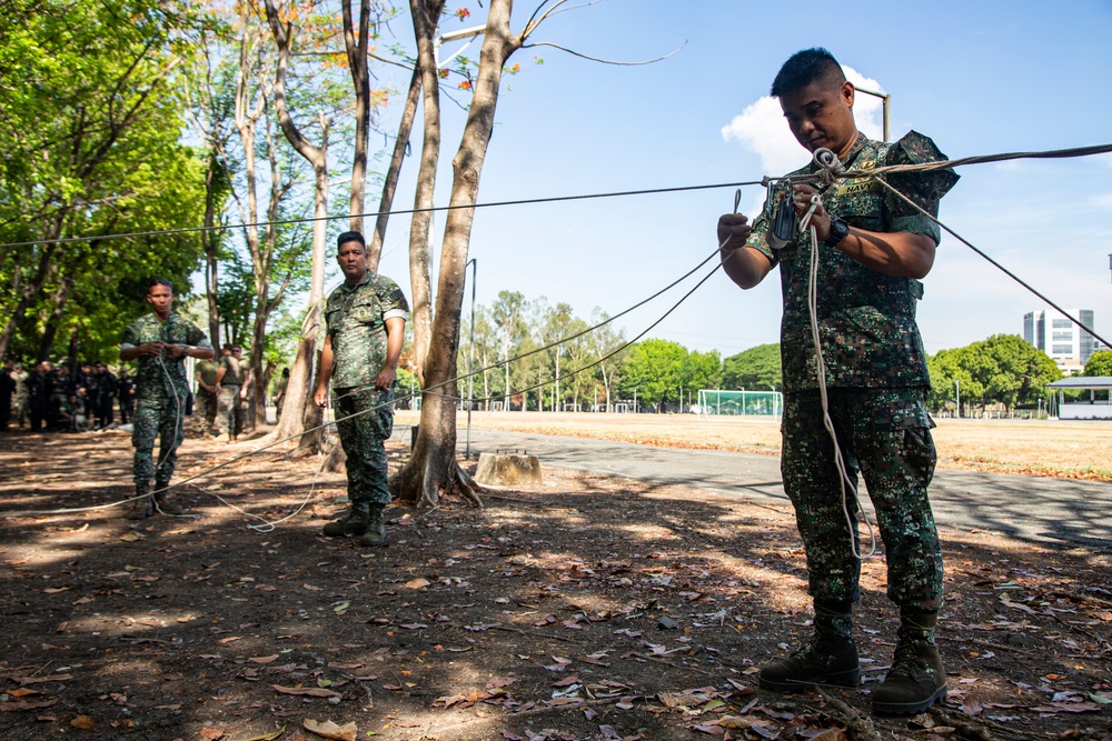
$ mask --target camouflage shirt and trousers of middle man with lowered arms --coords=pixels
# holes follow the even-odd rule
[[[378,391],[375,379],[386,364],[386,320],[408,313],[397,283],[370,272],[356,286],[332,291],[325,308],[332,338],[332,409],[353,503],[390,502],[384,441],[394,431],[394,391]],[[359,415],[347,419],[353,414]]]

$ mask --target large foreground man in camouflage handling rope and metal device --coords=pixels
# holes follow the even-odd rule
[[[853,118],[854,92],[825,49],[794,54],[772,87],[795,139],[812,152],[831,150],[846,169],[945,159],[934,142],[914,131],[895,143],[862,136]],[[817,170],[812,164],[792,174]],[[950,170],[887,177],[893,188],[935,216],[939,200],[956,180]],[[815,190],[791,186],[797,216],[811,208]],[[742,214],[718,219],[723,269],[737,286],[753,288],[780,267],[781,468],[806,551],[815,610],[811,641],[764,667],[758,681],[764,689],[782,692],[860,681],[852,615],[861,598],[860,472],[887,555],[887,597],[900,608],[895,657],[884,682],[872,692],[873,710],[916,713],[946,697],[934,635],[942,605],[942,547],[926,493],[936,460],[934,423],[926,412],[931,381],[915,322],[915,304],[923,297],[919,279],[934,263],[941,231],[875,179],[836,180],[822,199],[811,219],[820,266],[814,279],[808,269],[810,230],[774,249],[765,216],[753,224]],[[814,319],[808,304],[812,280],[817,292]],[[836,447],[825,428],[827,414]],[[845,485],[837,468],[840,453]]]

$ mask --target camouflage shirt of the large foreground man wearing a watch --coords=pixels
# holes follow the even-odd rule
[[[894,143],[873,141],[858,134],[846,169],[867,170],[885,164],[906,164],[945,159],[926,137],[910,132]],[[806,174],[815,164],[792,174]],[[952,170],[891,174],[887,181],[932,216],[939,201],[957,181]],[[926,234],[937,244],[937,224],[893,194],[875,179],[837,180],[823,193],[826,210],[851,226],[875,232]],[[807,306],[811,260],[810,230],[782,250],[766,242],[768,208],[754,221],[746,244],[780,264],[784,294],[781,357],[785,391],[815,389],[815,351]],[[818,244],[818,338],[826,362],[828,387],[895,388],[929,387],[926,352],[915,323],[915,304],[923,284],[912,278],[891,278],[834,248]]]

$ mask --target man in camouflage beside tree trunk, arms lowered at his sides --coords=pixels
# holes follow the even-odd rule
[[[327,337],[312,399],[325,407],[331,381],[336,429],[347,453],[351,510],[326,524],[324,533],[361,535],[361,544],[381,545],[386,541],[383,510],[390,503],[385,441],[394,431],[394,380],[409,304],[397,283],[368,270],[363,234],[344,232],[337,247],[344,283],[328,297],[325,308]]]

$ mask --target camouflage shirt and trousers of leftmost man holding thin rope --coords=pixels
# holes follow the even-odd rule
[[[168,344],[212,347],[205,332],[178,314],[170,313],[163,323],[150,313],[135,320],[123,330],[120,349],[137,348],[159,340]],[[185,360],[183,356],[171,358],[166,353],[161,357],[142,354],[137,360],[131,433],[131,444],[136,449],[131,469],[137,487],[146,487],[153,478],[156,485],[161,488],[173,478],[178,445],[185,437],[182,415],[186,412],[186,398],[189,395]],[[157,468],[151,457],[156,434],[159,439]]]

